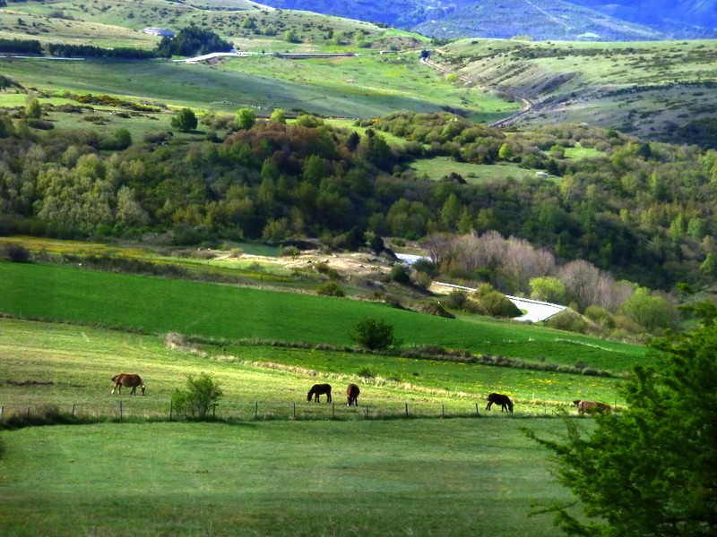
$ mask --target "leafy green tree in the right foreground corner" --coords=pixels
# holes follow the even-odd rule
[[[717,308],[702,326],[662,338],[656,365],[636,367],[626,408],[596,417],[592,433],[566,420],[567,439],[538,439],[586,518],[553,507],[568,535],[698,537],[717,534]]]

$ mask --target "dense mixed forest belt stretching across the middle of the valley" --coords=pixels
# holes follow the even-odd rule
[[[443,268],[523,294],[531,277],[576,260],[666,291],[717,274],[717,151],[575,125],[504,132],[443,113],[394,114],[357,131],[311,115],[291,124],[276,117],[239,128],[230,116],[204,116],[206,140],[160,131],[133,143],[124,130],[39,132],[4,115],[0,233],[153,231],[177,244],[317,237],[356,248],[354,238],[369,232],[434,243],[449,236],[461,251],[485,250],[471,240],[497,233],[521,246],[508,258],[524,266],[510,277],[506,263],[476,256],[445,258]],[[382,132],[405,142],[389,144]],[[566,158],[577,144],[595,156]],[[506,166],[505,178],[468,183],[410,168],[436,156],[540,173],[517,180]]]

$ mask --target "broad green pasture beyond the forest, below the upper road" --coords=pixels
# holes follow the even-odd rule
[[[358,57],[345,58],[347,64],[361,62]],[[437,83],[435,75],[423,74],[428,80],[414,81],[414,89],[404,86],[394,90],[388,74],[379,71],[383,81],[349,82],[354,76],[345,72],[346,66],[335,66],[336,76],[343,83],[323,81],[325,71],[310,69],[304,76],[276,78],[270,76],[275,64],[308,64],[315,60],[281,60],[272,55],[237,58],[228,67],[208,64],[177,64],[163,60],[146,62],[58,62],[53,60],[5,61],[3,72],[22,86],[35,88],[48,95],[62,96],[66,91],[76,94],[108,94],[135,102],[149,100],[169,107],[192,107],[216,113],[234,113],[240,107],[254,107],[260,114],[273,108],[304,110],[317,115],[376,117],[397,110],[436,112],[442,107],[458,107],[471,114],[484,107],[499,107],[497,98],[486,97],[471,90],[451,90],[447,84]],[[254,64],[263,74],[242,72],[244,64]],[[304,68],[302,68],[304,69]],[[416,75],[418,56],[414,66],[405,65],[401,72],[409,79]],[[324,74],[322,74],[324,73]],[[393,75],[391,75],[393,76]],[[440,79],[438,79],[440,80]],[[432,88],[432,90],[428,90]],[[43,98],[40,98],[40,103]],[[16,103],[13,101],[13,105]],[[512,105],[506,104],[507,113]],[[160,125],[157,128],[166,126]]]

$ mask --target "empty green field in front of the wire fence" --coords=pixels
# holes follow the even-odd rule
[[[456,419],[5,431],[0,525],[8,537],[550,537],[550,516],[528,515],[570,496],[523,426],[564,430]]]

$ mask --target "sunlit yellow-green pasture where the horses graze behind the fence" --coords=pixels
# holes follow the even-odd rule
[[[531,371],[482,364],[399,358],[315,348],[267,345],[168,345],[166,335],[143,335],[61,323],[0,319],[0,405],[6,413],[28,407],[57,405],[63,412],[115,415],[119,396],[109,397],[110,378],[134,371],[147,386],[142,398],[125,396],[129,415],[168,417],[172,392],[189,375],[209,372],[225,397],[220,415],[248,419],[255,405],[261,414],[277,417],[309,415],[327,410],[307,405],[307,390],[328,382],[337,392],[349,382],[361,388],[361,407],[376,413],[439,415],[482,413],[493,391],[509,394],[515,415],[552,415],[559,407],[572,410],[576,398],[619,403],[618,379],[555,371]],[[13,380],[14,384],[7,384]],[[24,384],[23,384],[24,382]],[[125,394],[126,395],[126,394]],[[364,416],[359,410],[358,417]],[[345,410],[345,408],[344,408]],[[342,417],[357,417],[345,413]]]

